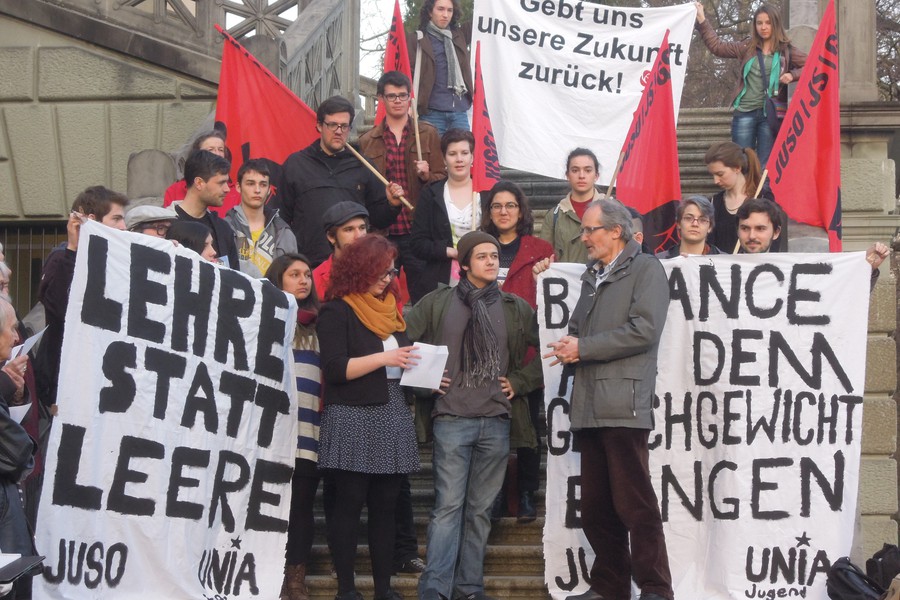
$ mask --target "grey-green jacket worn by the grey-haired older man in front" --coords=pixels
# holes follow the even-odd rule
[[[656,355],[669,307],[665,270],[634,240],[596,292],[595,266],[581,276],[581,297],[569,321],[580,357],[572,429],[652,429]]]

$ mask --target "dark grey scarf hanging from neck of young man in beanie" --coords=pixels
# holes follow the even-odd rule
[[[472,311],[463,332],[460,357],[463,387],[479,387],[500,376],[497,335],[488,314],[488,306],[500,299],[500,287],[493,281],[483,288],[477,288],[468,277],[460,277],[456,294]]]

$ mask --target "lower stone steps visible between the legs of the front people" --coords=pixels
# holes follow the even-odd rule
[[[420,447],[420,458],[422,469],[410,477],[410,485],[416,535],[419,540],[419,555],[424,558],[428,515],[434,504],[431,444]],[[544,481],[543,465],[541,470],[541,480]],[[534,522],[519,524],[514,517],[504,517],[491,528],[484,563],[485,591],[491,597],[504,600],[546,600],[549,598],[544,587],[543,492],[536,494],[536,504],[538,519]],[[365,512],[363,512],[359,532],[356,585],[364,598],[372,598],[374,591],[369,549],[366,542]],[[332,600],[337,593],[337,580],[332,578],[330,571],[331,557],[325,542],[325,518],[322,515],[320,503],[316,517],[316,537],[307,576],[307,584],[314,600]],[[418,581],[417,575],[399,574],[394,576],[392,586],[407,600],[410,600],[417,597]]]

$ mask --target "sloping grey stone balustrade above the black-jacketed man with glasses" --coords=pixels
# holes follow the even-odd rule
[[[281,80],[315,109],[359,93],[359,0],[316,0],[283,34]]]

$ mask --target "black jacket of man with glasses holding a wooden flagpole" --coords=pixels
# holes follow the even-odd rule
[[[297,249],[317,267],[331,254],[322,224],[330,206],[359,202],[376,229],[386,229],[397,219],[400,208],[388,203],[384,187],[350,151],[325,154],[316,140],[284,161],[273,204],[297,237]]]

